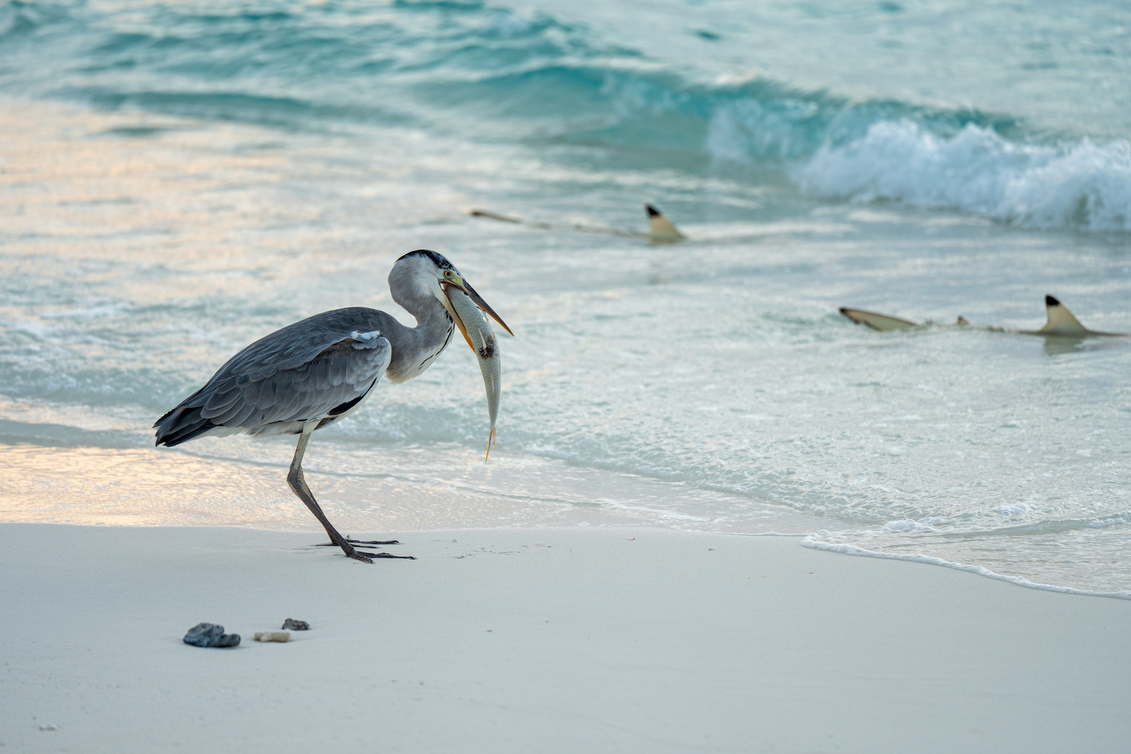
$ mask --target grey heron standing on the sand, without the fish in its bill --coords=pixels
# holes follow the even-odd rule
[[[398,557],[354,547],[395,540],[359,541],[338,534],[307,485],[302,457],[310,435],[361,408],[381,375],[389,382],[404,382],[431,366],[456,326],[472,345],[448,300],[457,289],[513,335],[446,257],[417,249],[398,259],[389,272],[392,300],[416,318],[416,327],[363,306],[336,309],[288,324],[230,358],[202,388],[157,419],[156,444],[172,448],[196,437],[239,433],[296,434],[287,484],[326,529],[330,545],[366,563],[372,557]],[[476,357],[482,358],[478,352]]]

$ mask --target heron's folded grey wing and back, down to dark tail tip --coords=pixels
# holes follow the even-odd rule
[[[359,323],[356,311],[296,322],[238,353],[154,424],[157,444],[180,444],[216,427],[256,432],[348,410],[375,384],[392,355],[377,330],[349,328]],[[331,319],[335,314],[339,317]]]

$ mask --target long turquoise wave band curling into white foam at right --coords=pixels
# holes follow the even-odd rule
[[[1131,231],[1131,145],[1018,119],[696,80],[584,24],[482,2],[0,5],[0,90],[277,127],[584,145],[638,170],[751,166],[802,193]],[[50,67],[41,64],[52,60]],[[559,158],[569,158],[559,157]]]

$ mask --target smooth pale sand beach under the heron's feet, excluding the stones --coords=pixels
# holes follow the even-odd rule
[[[418,560],[366,565],[310,532],[0,525],[0,749],[1098,753],[1131,739],[1131,601],[787,537],[395,536]],[[251,641],[287,617],[312,629]],[[243,643],[182,643],[201,621]]]

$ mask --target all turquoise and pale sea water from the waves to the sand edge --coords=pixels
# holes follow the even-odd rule
[[[1131,331],[1131,11],[838,8],[3,6],[0,514],[310,528],[293,441],[148,427],[291,321],[408,321],[385,277],[423,246],[518,336],[498,454],[457,344],[319,432],[343,528],[651,521],[1131,590],[1131,341],[947,327],[1053,294]],[[691,241],[467,214],[644,201]]]

